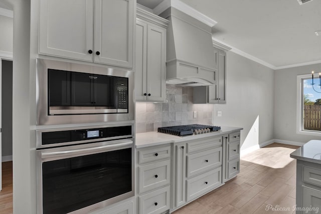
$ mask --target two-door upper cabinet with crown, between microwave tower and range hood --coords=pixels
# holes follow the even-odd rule
[[[166,100],[167,20],[137,8],[136,19],[136,101]]]

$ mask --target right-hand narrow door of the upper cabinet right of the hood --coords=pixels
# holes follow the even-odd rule
[[[218,53],[218,78],[217,78],[217,96],[219,103],[226,103],[226,53]]]

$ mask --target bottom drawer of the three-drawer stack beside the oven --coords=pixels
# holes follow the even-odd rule
[[[170,186],[138,197],[139,214],[158,214],[170,209]]]

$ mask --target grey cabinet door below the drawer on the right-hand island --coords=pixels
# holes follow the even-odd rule
[[[302,208],[311,209],[296,213],[316,213],[316,209],[321,210],[321,191],[302,186]]]

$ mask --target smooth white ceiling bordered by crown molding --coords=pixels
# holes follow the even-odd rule
[[[137,0],[154,9],[163,0]],[[168,1],[168,0],[166,0]],[[321,0],[181,0],[217,22],[212,37],[272,69],[321,63]]]

